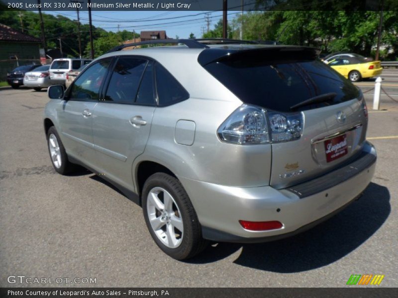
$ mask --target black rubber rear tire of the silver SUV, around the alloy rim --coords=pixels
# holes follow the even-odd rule
[[[156,235],[149,221],[147,204],[148,194],[154,188],[163,188],[173,197],[183,221],[183,236],[181,244],[176,248],[166,246]],[[166,254],[176,260],[186,260],[199,254],[206,248],[208,241],[202,238],[201,226],[197,214],[180,181],[166,173],[156,173],[150,176],[142,190],[142,210],[148,230],[156,244]],[[166,226],[166,224],[165,224]]]

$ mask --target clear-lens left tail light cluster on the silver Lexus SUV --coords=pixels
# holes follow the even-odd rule
[[[301,137],[302,113],[279,113],[243,104],[218,128],[227,143],[250,145],[294,141]]]

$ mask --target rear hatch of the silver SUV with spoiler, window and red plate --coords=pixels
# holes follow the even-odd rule
[[[283,46],[230,51],[206,63],[199,56],[199,63],[245,104],[286,119],[301,115],[299,139],[272,141],[270,185],[276,188],[341,166],[365,142],[367,111],[361,91],[316,57],[315,49]],[[268,121],[270,131],[278,125]]]

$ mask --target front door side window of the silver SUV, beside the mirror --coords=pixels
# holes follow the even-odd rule
[[[90,66],[73,83],[70,98],[77,100],[98,100],[100,87],[105,80],[110,59],[101,60]]]

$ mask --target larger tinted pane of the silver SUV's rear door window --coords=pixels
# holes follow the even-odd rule
[[[113,69],[105,100],[134,103],[146,64],[144,59],[119,58]]]

